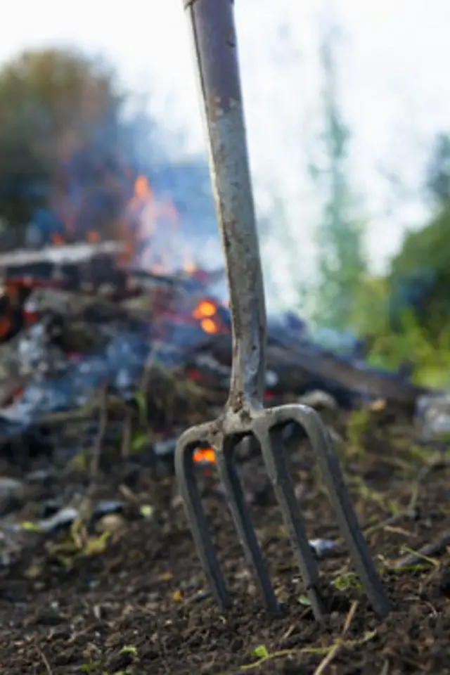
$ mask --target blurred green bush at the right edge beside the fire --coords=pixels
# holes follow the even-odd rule
[[[450,383],[450,208],[404,238],[387,276],[355,290],[351,326],[371,345],[373,366],[413,364],[413,380]]]

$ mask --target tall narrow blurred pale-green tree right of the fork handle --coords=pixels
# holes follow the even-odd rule
[[[324,195],[317,230],[319,283],[314,319],[328,328],[350,328],[354,295],[366,275],[364,228],[350,214],[352,195],[347,173],[349,129],[342,120],[337,92],[335,44],[338,32],[331,24],[321,46],[324,131],[321,154],[325,162],[311,164],[310,174]]]

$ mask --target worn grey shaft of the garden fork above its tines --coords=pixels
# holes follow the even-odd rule
[[[231,305],[228,406],[262,407],[266,307],[240,86],[233,0],[183,0],[189,16]]]

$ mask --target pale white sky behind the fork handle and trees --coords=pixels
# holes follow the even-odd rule
[[[368,219],[374,269],[399,249],[426,210],[418,198],[436,131],[450,127],[450,3],[446,0],[236,0],[250,161],[259,210],[286,204],[295,255],[274,229],[265,266],[288,288],[309,274],[320,197],[307,165],[321,159],[319,44],[330,16],[341,27],[336,66],[352,129],[352,185]],[[205,152],[181,0],[23,0],[0,25],[0,63],[25,48],[70,45],[106,56],[131,91],[150,93],[162,142]],[[386,176],[395,176],[395,184]],[[288,251],[288,249],[291,249]],[[276,263],[271,263],[276,259]],[[283,261],[283,264],[280,264]],[[289,281],[291,280],[291,281]],[[286,290],[288,297],[293,290]]]

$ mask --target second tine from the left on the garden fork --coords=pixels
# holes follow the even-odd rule
[[[219,450],[216,454],[217,469],[219,470],[219,477],[224,484],[225,494],[229,502],[234,524],[238,530],[240,542],[244,549],[245,558],[247,558],[248,563],[255,570],[256,579],[262,591],[266,608],[269,612],[276,615],[280,613],[280,605],[272,588],[266,563],[259,548],[255,528],[250,519],[249,508],[247,503],[245,503],[245,496],[234,458],[236,444],[237,442],[233,437],[226,437],[224,439],[221,451]]]

